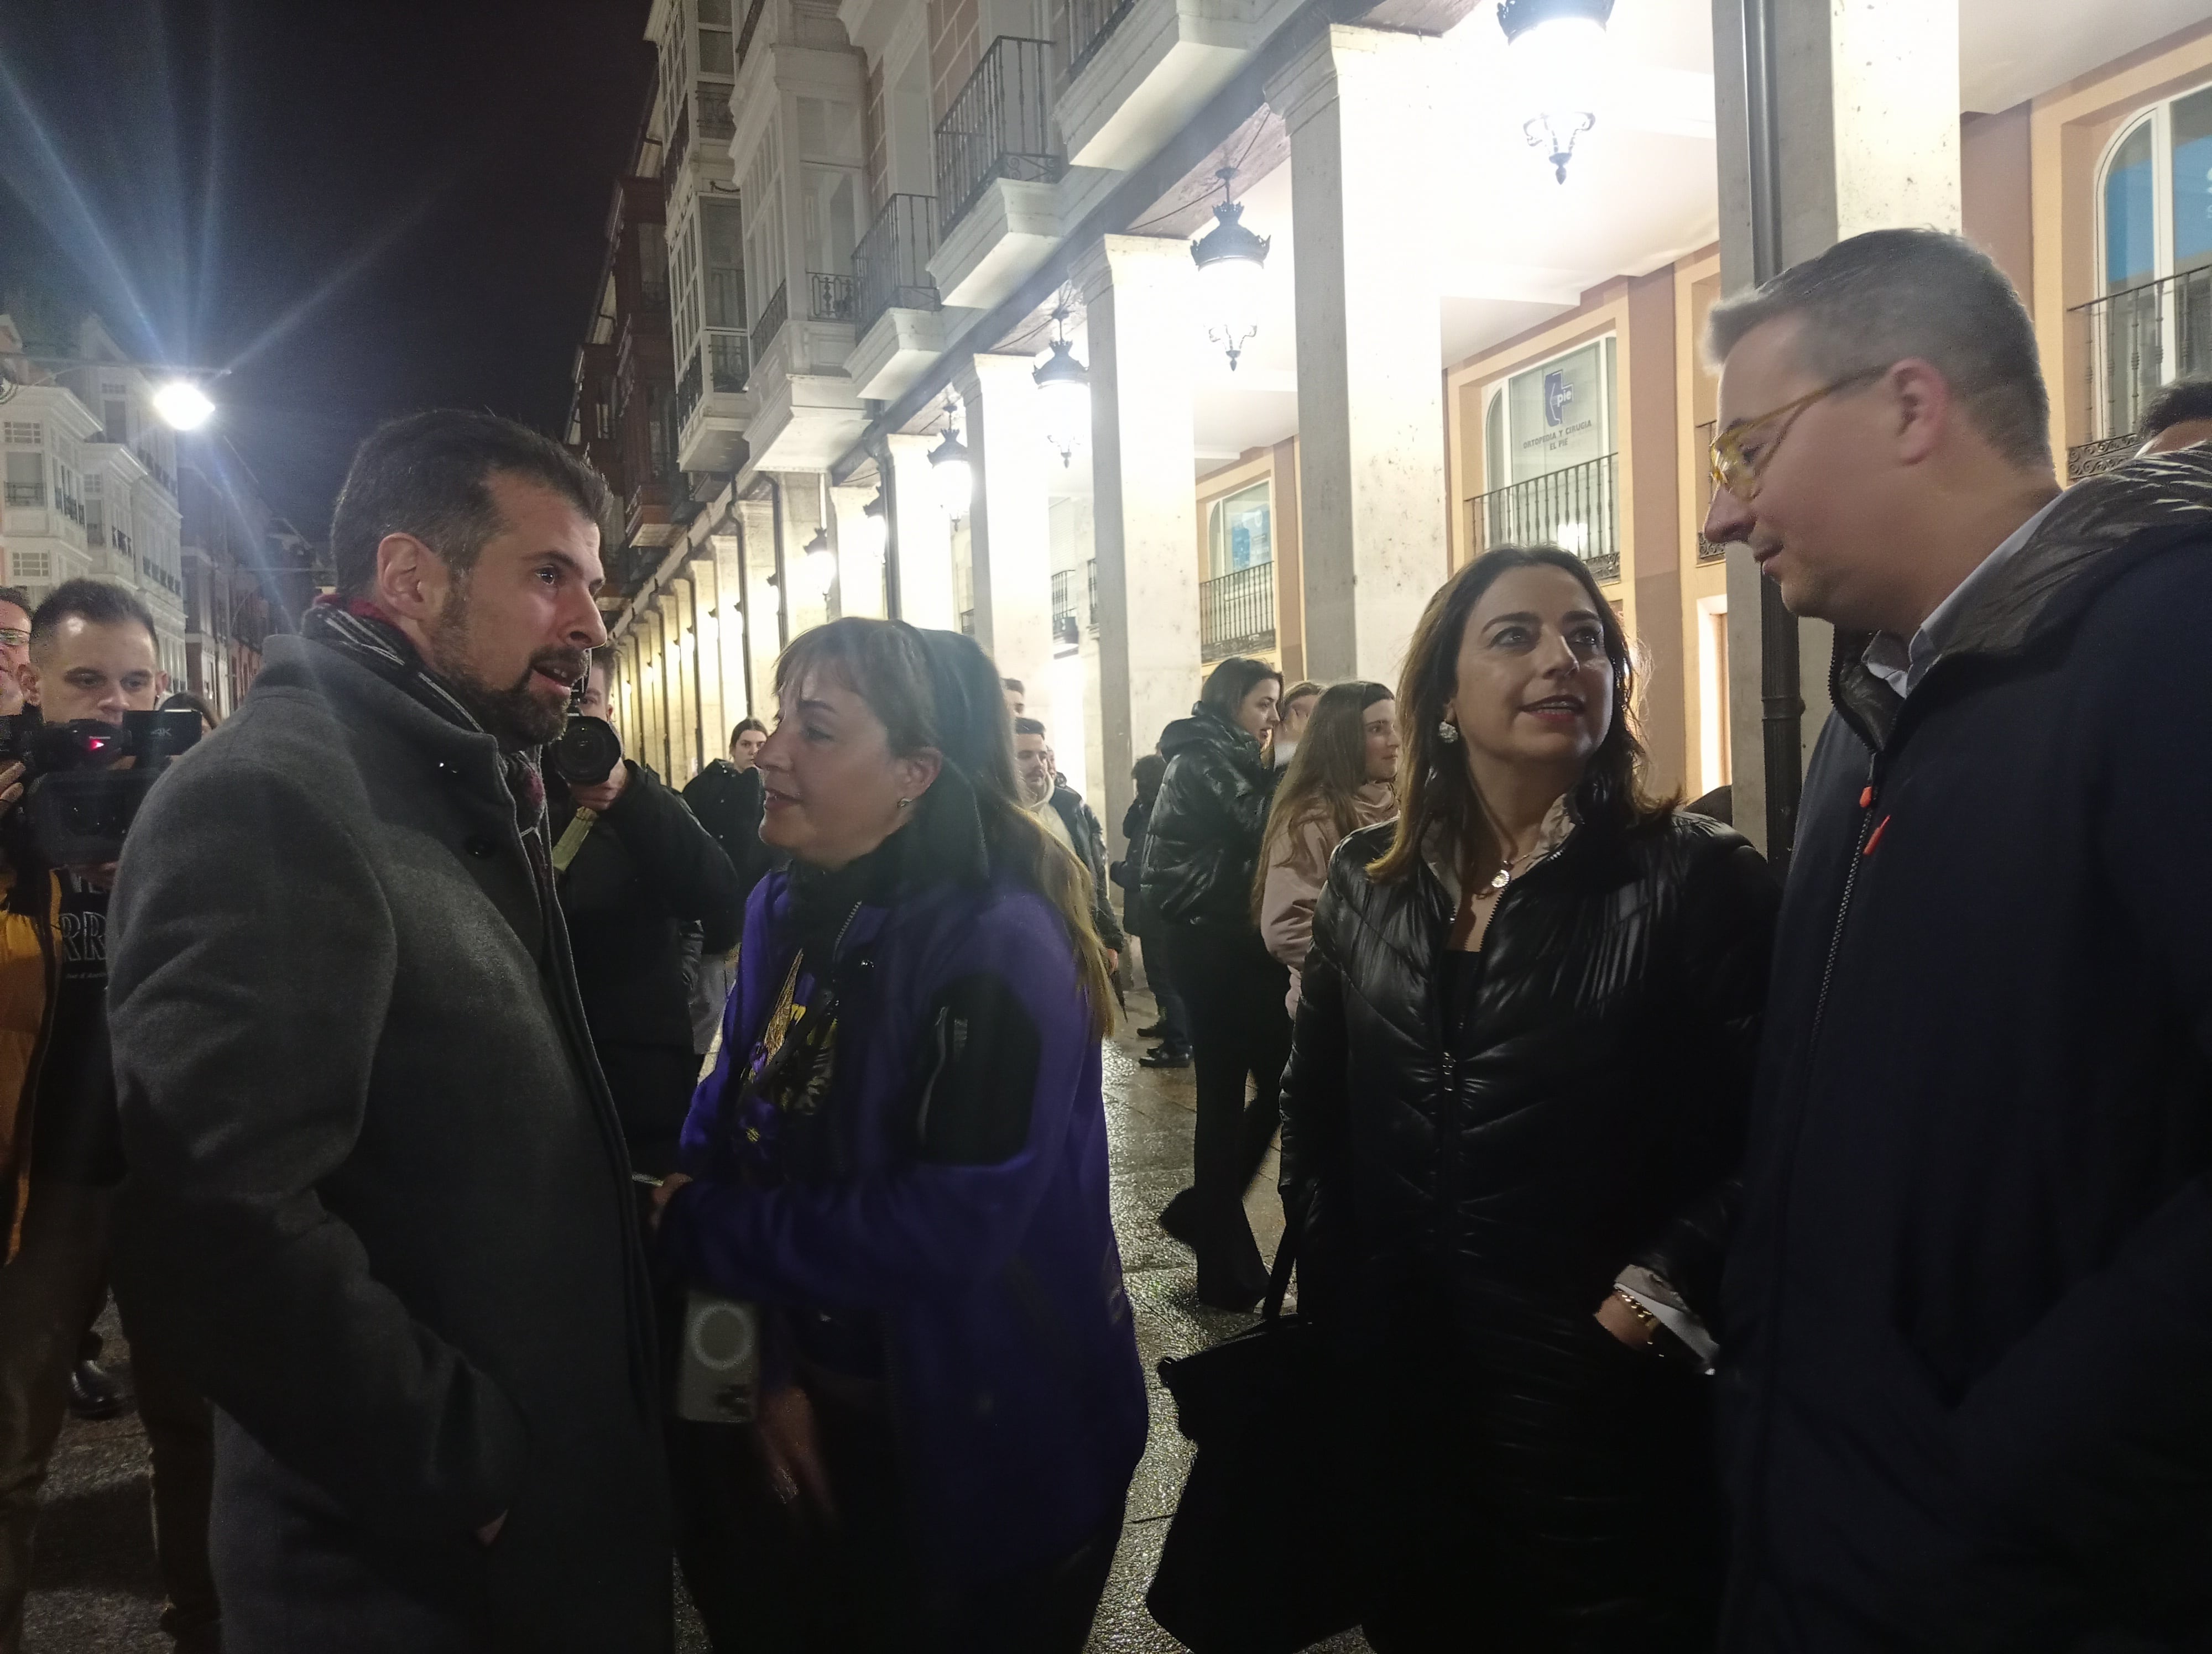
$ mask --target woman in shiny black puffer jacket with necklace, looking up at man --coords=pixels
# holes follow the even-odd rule
[[[1283,1092],[1380,1654],[1714,1639],[1712,1289],[1776,889],[1648,803],[1579,557],[1493,551],[1398,692],[1400,818],[1343,842]]]

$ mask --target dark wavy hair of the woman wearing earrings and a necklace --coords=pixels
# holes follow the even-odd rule
[[[1413,643],[1405,655],[1405,674],[1398,681],[1398,831],[1389,849],[1367,867],[1367,876],[1378,884],[1405,878],[1420,867],[1420,840],[1431,823],[1451,829],[1460,845],[1473,836],[1484,842],[1493,836],[1489,816],[1475,796],[1475,783],[1467,772],[1464,750],[1444,745],[1436,727],[1444,721],[1444,703],[1460,683],[1460,639],[1467,637],[1467,621],[1482,601],[1482,593],[1513,568],[1562,568],[1577,579],[1590,597],[1590,610],[1606,639],[1606,659],[1613,661],[1613,723],[1606,739],[1590,754],[1582,781],[1568,792],[1568,809],[1584,827],[1604,831],[1630,831],[1639,823],[1668,814],[1672,800],[1652,800],[1644,792],[1646,754],[1637,739],[1635,719],[1635,661],[1628,650],[1628,632],[1621,630],[1613,604],[1597,590],[1590,566],[1571,551],[1557,546],[1498,546],[1475,557],[1467,568],[1447,579],[1413,628]]]

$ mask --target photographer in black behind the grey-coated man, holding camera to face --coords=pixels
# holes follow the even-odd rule
[[[588,734],[622,752],[606,723],[606,657],[591,663],[582,719]],[[622,1134],[639,1172],[675,1168],[677,1134],[699,1079],[684,927],[697,924],[708,957],[737,946],[745,887],[684,800],[657,774],[615,756],[604,778],[573,774],[580,747],[549,750],[546,809],[553,867],[584,1022],[615,1092]],[[597,763],[584,758],[584,772]]]

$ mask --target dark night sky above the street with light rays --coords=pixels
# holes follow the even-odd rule
[[[4,0],[0,276],[77,272],[321,540],[420,407],[560,433],[648,0]],[[51,274],[49,274],[51,279]]]

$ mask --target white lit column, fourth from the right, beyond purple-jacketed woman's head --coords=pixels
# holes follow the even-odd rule
[[[1031,716],[1051,727],[1053,524],[1044,462],[1060,464],[1060,456],[1037,427],[1031,371],[1029,356],[971,356],[956,383],[975,464],[969,517],[975,641],[998,661],[1000,677],[1022,681]]]

